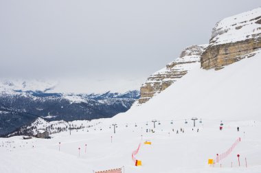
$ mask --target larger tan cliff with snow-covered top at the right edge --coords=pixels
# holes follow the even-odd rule
[[[209,46],[201,56],[203,69],[222,69],[261,48],[261,8],[216,23]]]

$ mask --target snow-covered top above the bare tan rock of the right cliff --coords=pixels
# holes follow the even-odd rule
[[[210,45],[221,45],[256,38],[261,34],[261,8],[230,16],[216,23]]]

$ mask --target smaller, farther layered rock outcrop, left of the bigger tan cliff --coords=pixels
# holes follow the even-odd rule
[[[165,68],[153,73],[141,86],[139,104],[168,88],[182,78],[194,65],[199,63],[200,56],[207,45],[192,45],[181,52],[181,56],[166,65]]]

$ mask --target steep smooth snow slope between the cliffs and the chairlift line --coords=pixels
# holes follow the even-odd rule
[[[133,106],[114,121],[148,119],[261,120],[261,54],[235,62],[221,71],[198,67],[144,106]]]

